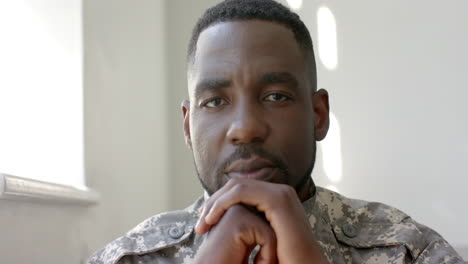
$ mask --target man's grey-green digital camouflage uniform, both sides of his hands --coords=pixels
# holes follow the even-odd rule
[[[191,263],[205,238],[193,231],[203,201],[147,219],[89,264]],[[330,263],[466,263],[438,233],[387,205],[317,187],[303,207]]]

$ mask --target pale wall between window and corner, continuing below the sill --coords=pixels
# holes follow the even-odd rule
[[[165,2],[85,0],[83,12],[86,183],[102,199],[0,200],[1,263],[84,263],[168,209]]]

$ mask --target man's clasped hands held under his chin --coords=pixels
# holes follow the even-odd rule
[[[284,184],[231,179],[203,207],[195,227],[207,234],[195,263],[328,263],[296,191]]]

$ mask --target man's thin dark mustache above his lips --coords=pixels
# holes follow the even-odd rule
[[[283,160],[256,145],[239,145],[239,147],[237,147],[235,151],[218,168],[217,175],[223,175],[226,169],[235,161],[249,159],[253,156],[270,161],[273,166],[282,170],[285,175],[288,175],[288,166]]]

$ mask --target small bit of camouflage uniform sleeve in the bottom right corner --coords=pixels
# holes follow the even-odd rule
[[[466,264],[444,239],[434,240],[419,254],[414,264]]]

